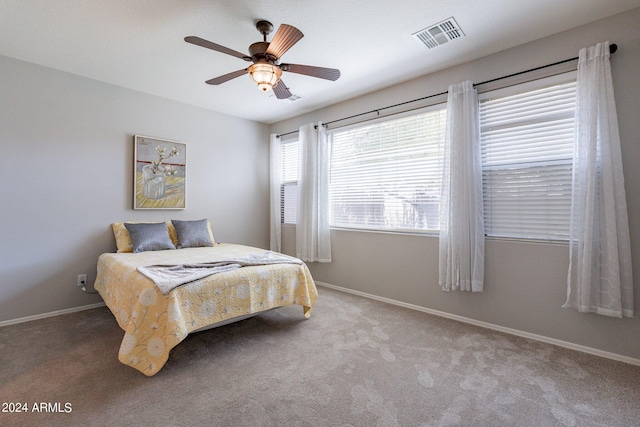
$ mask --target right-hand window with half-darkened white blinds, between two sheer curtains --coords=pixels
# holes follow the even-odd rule
[[[487,236],[568,239],[576,98],[570,78],[481,95]]]

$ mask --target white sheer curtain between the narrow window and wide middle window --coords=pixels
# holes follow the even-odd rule
[[[329,147],[322,125],[300,127],[296,256],[331,262],[329,232]]]

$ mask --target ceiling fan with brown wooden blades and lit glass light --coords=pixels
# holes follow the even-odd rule
[[[219,85],[228,82],[231,79],[235,79],[236,77],[240,77],[245,73],[249,73],[251,79],[258,84],[258,89],[265,92],[273,89],[273,92],[278,99],[287,99],[291,97],[291,92],[289,92],[289,88],[280,79],[283,71],[333,81],[338,80],[340,77],[340,70],[335,68],[278,63],[280,57],[282,57],[286,51],[304,37],[304,34],[302,34],[302,32],[296,27],[287,24],[280,25],[270,43],[267,42],[267,34],[273,31],[273,24],[269,21],[258,21],[256,23],[256,28],[260,34],[262,34],[263,41],[253,43],[249,46],[249,55],[245,55],[244,53],[229,49],[200,37],[188,36],[184,38],[184,41],[187,43],[206,47],[207,49],[212,49],[217,52],[226,53],[227,55],[244,59],[247,62],[253,62],[253,64],[247,68],[207,80],[205,83],[210,85]]]

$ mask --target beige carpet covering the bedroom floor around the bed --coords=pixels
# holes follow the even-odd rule
[[[154,377],[118,362],[106,308],[0,328],[2,409],[29,410],[0,425],[640,425],[640,367],[319,292],[311,319],[192,335]]]

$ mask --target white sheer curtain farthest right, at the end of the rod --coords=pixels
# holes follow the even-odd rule
[[[629,220],[609,43],[580,50],[567,302],[633,317]]]

